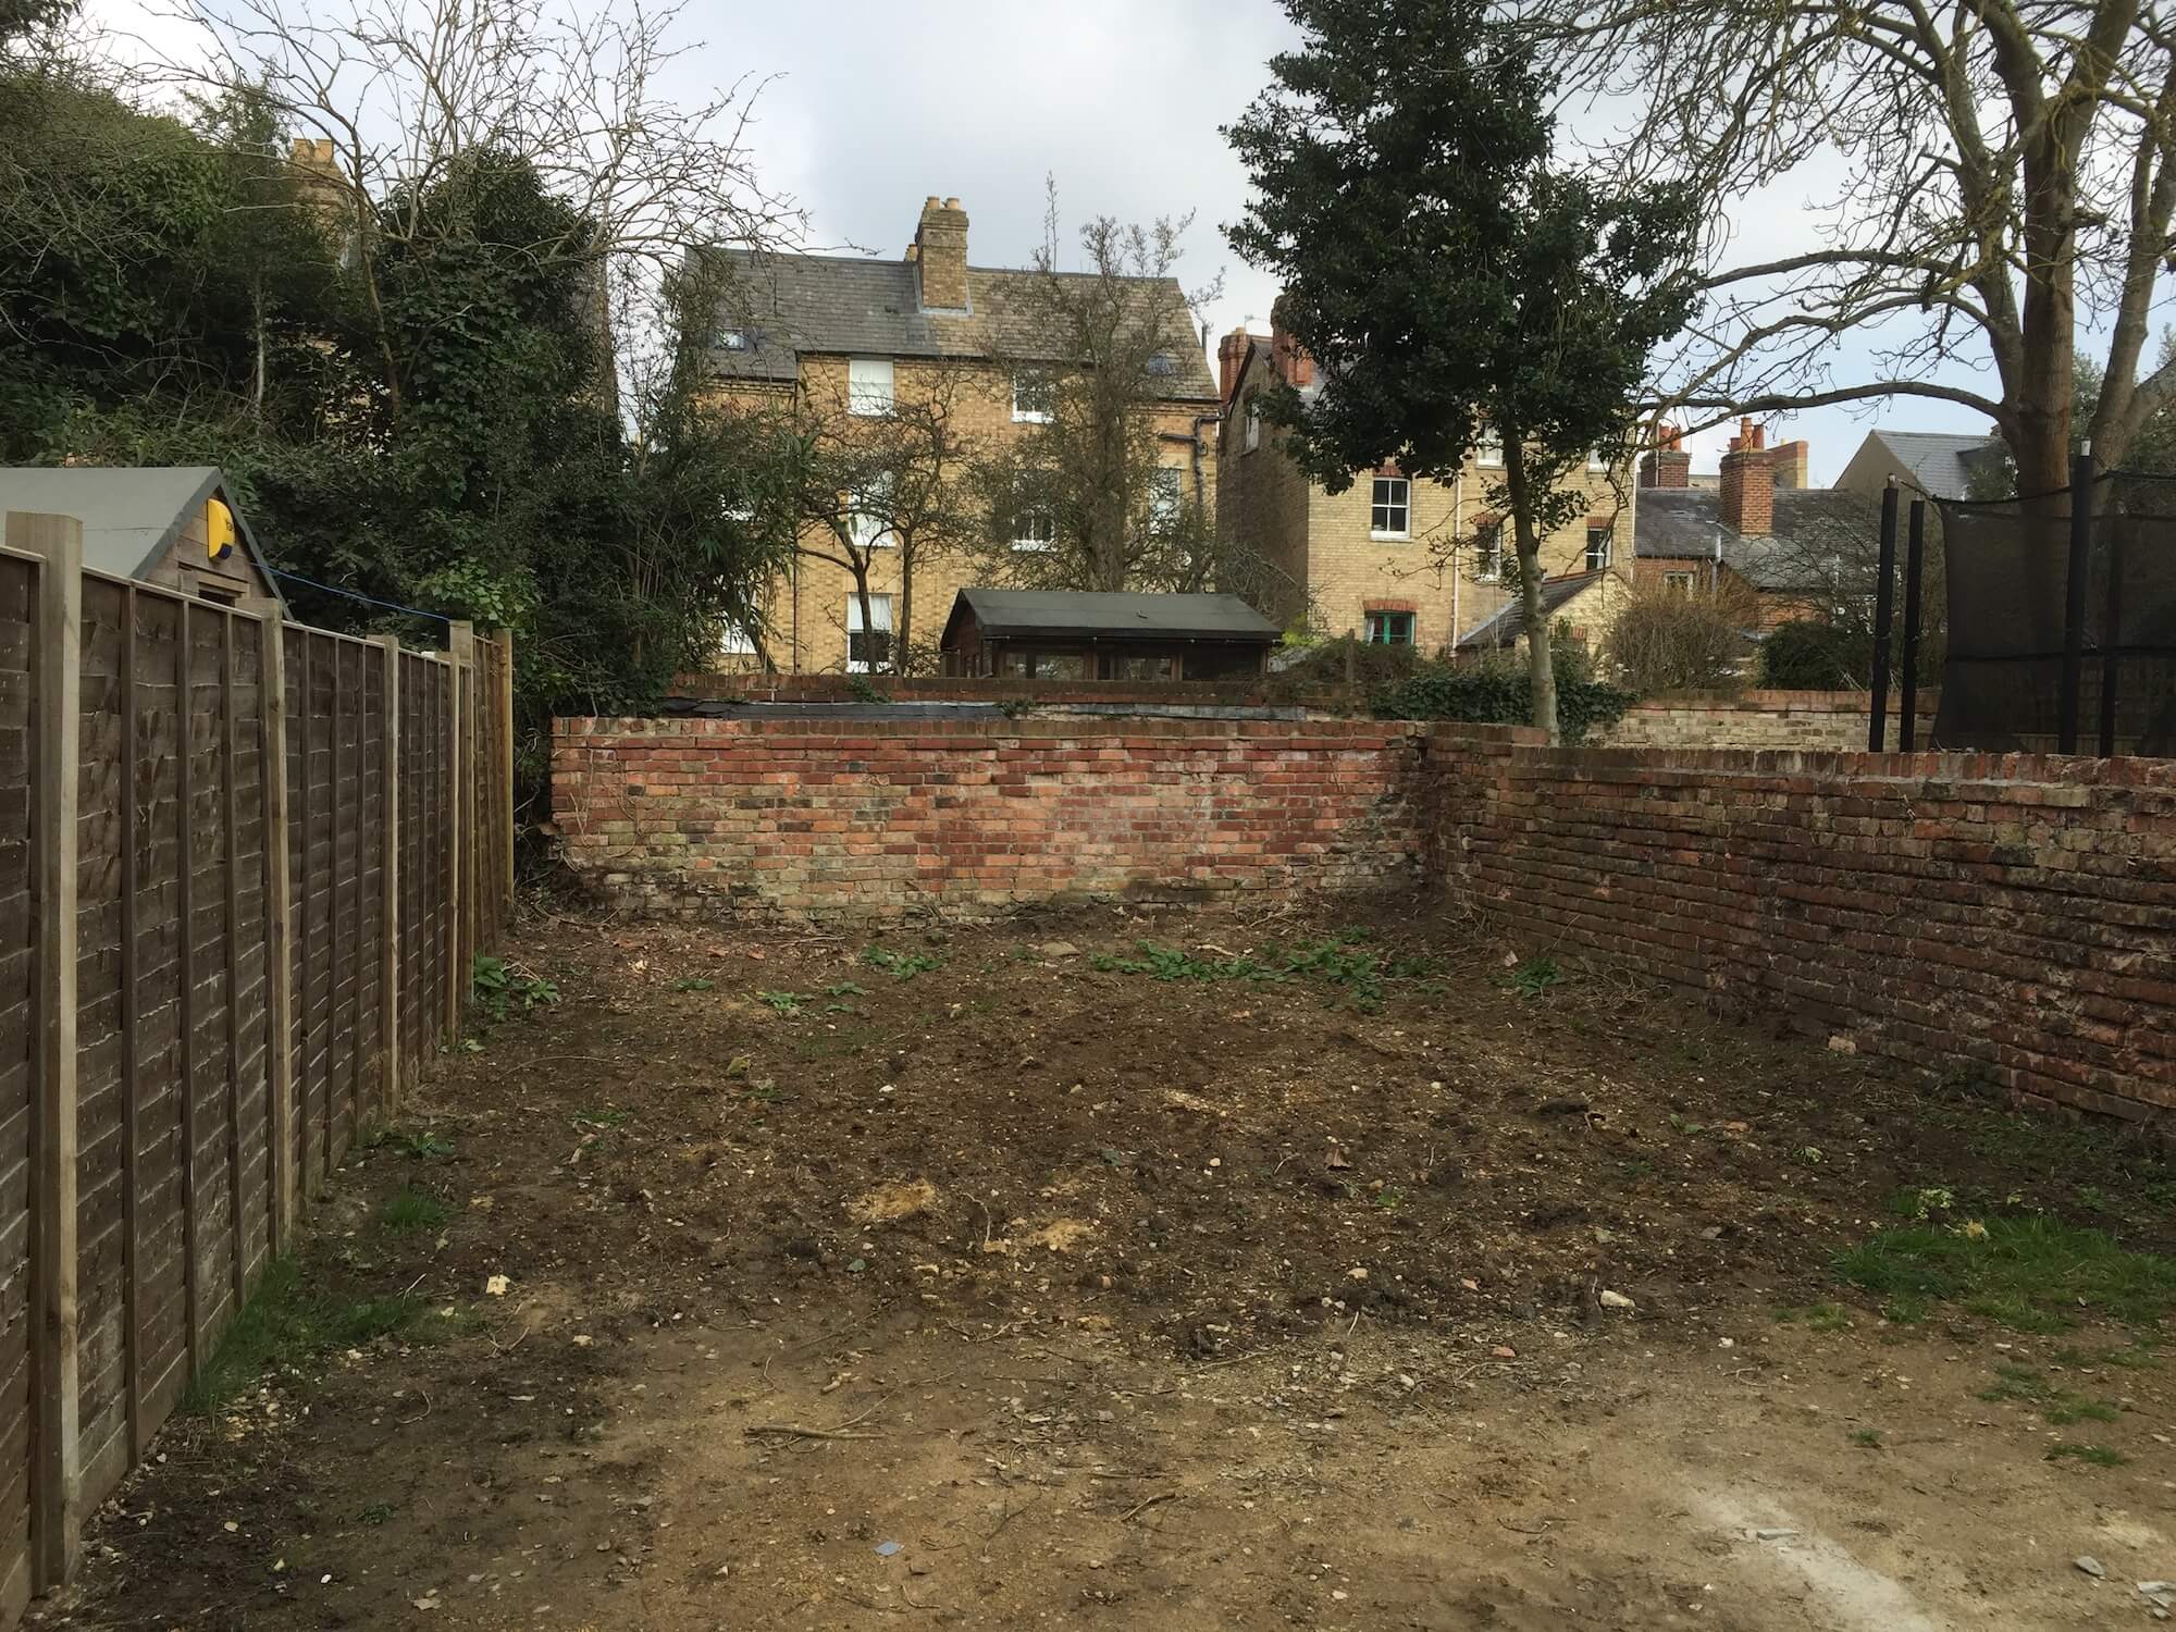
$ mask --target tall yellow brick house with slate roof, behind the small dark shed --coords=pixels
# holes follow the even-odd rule
[[[1031,270],[968,263],[968,218],[957,198],[929,198],[914,242],[899,259],[846,255],[755,255],[720,250],[729,287],[712,335],[709,368],[720,407],[740,403],[844,409],[846,424],[903,413],[905,405],[944,394],[951,424],[966,437],[1003,440],[1029,433],[1047,418],[1023,363],[1073,363],[1066,339],[1051,333],[1047,305],[1031,298]],[[1073,276],[1073,274],[1068,274]],[[1092,274],[1079,274],[1092,276]],[[1134,279],[1140,300],[1169,333],[1158,353],[1158,463],[1171,500],[1190,500],[1203,516],[1216,503],[1216,385],[1203,342],[1177,279]],[[964,479],[964,472],[962,472]],[[1016,551],[1049,548],[1036,518],[1023,537],[997,542]],[[816,529],[820,537],[820,527]],[[803,529],[809,540],[809,529]],[[764,594],[764,651],[788,670],[870,672],[888,666],[894,622],[907,607],[907,583],[886,535],[857,533],[870,548],[873,629],[864,629],[853,574],[807,553],[794,557]],[[990,557],[960,548],[925,555],[912,581],[910,644],[934,653],[944,614],[962,588],[990,577]],[[729,638],[722,668],[757,662],[755,642]]]

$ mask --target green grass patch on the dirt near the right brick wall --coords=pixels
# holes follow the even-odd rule
[[[1884,1229],[1837,1253],[1834,1271],[1891,1303],[1911,1301],[1919,1319],[1928,1303],[1963,1303],[2019,1332],[2067,1332],[2080,1310],[2152,1325],[2176,1306],[2176,1260],[2056,1219]]]

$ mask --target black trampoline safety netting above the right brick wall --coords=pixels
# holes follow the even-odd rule
[[[2176,479],[2113,472],[2091,500],[2078,753],[2098,753],[2113,677],[2115,751],[2176,755]],[[2067,490],[1943,500],[1950,644],[1934,746],[2056,751],[2069,516]]]

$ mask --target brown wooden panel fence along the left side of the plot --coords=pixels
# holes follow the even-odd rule
[[[61,1584],[514,901],[511,653],[0,548],[0,1628]]]

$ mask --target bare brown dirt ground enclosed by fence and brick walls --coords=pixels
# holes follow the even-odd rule
[[[2152,1621],[2163,1260],[2019,1301],[1837,1253],[2163,1251],[2172,1169],[1347,925],[533,920],[559,1001],[335,1175],[44,1619]]]

